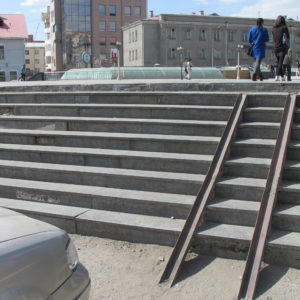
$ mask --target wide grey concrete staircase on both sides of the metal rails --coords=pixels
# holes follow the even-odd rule
[[[0,206],[70,233],[174,245],[237,93],[0,94]],[[195,238],[245,258],[286,94],[253,93]],[[265,260],[300,267],[300,121]],[[297,200],[298,199],[298,200]]]

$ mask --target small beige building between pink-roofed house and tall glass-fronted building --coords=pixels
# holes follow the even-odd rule
[[[25,64],[28,75],[45,72],[45,43],[34,41],[32,35],[25,44]]]

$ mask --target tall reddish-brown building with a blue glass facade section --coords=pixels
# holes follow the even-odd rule
[[[122,26],[145,19],[147,11],[147,0],[51,1],[50,17],[43,19],[55,35],[55,70],[112,65]]]

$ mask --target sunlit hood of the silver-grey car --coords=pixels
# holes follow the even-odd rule
[[[59,230],[57,227],[31,219],[12,210],[0,207],[0,243],[45,231]]]

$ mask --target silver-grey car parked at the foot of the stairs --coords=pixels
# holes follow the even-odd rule
[[[68,234],[0,207],[0,300],[87,300],[88,271]]]

